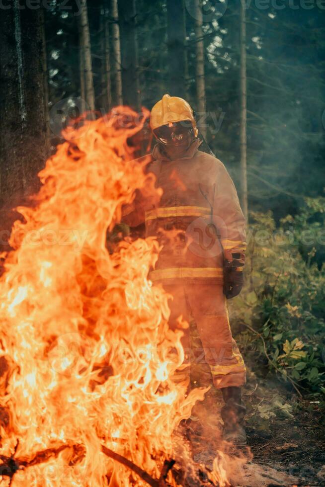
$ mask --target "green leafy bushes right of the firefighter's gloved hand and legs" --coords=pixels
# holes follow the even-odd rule
[[[301,213],[278,228],[270,212],[251,214],[245,288],[231,306],[248,354],[317,395],[325,393],[325,266],[313,258],[324,249],[304,245],[301,236],[322,230],[320,214],[324,198],[307,199]]]

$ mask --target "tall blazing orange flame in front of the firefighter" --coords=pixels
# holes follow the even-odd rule
[[[168,296],[147,279],[157,242],[105,246],[136,188],[160,197],[128,144],[147,117],[121,128],[117,110],[69,127],[18,209],[0,278],[1,454],[29,461],[13,486],[147,485],[102,445],[159,478],[175,427],[203,397],[184,399],[171,379],[184,357]]]

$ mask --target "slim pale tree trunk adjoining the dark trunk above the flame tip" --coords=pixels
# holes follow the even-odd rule
[[[121,41],[120,41],[120,27],[118,24],[118,5],[117,0],[110,0],[110,16],[114,18],[112,22],[112,77],[113,81],[113,96],[112,103],[114,105],[123,104],[122,96],[122,73],[121,73]]]

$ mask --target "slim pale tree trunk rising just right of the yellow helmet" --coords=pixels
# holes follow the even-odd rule
[[[205,97],[205,76],[204,76],[204,42],[202,29],[202,10],[200,8],[200,0],[195,1],[195,74],[196,74],[196,97],[197,97],[197,111],[199,119],[205,120],[203,115],[206,112],[206,97]],[[199,126],[199,130],[204,139],[207,136],[206,122]]]

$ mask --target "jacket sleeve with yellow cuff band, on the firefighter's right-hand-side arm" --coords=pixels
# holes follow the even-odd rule
[[[218,161],[214,191],[213,223],[218,231],[225,259],[238,259],[244,265],[246,221],[235,184],[220,161]]]

